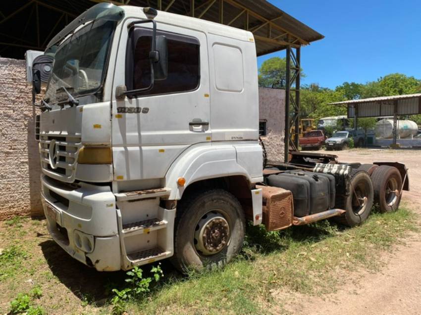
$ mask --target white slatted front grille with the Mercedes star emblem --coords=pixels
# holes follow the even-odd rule
[[[43,172],[53,179],[73,182],[81,147],[79,135],[41,134],[40,158]]]

